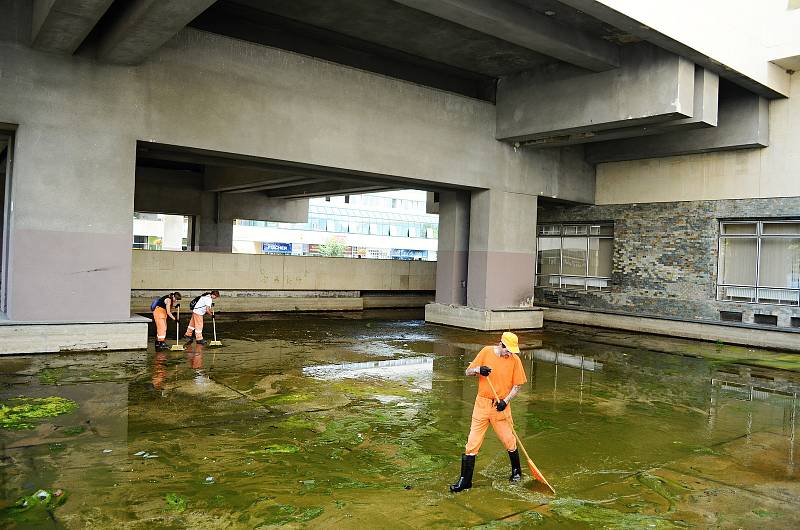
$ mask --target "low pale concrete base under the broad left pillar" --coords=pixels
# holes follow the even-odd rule
[[[111,322],[14,322],[0,325],[0,355],[147,348],[149,319]]]

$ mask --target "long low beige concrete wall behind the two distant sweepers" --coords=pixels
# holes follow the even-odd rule
[[[133,251],[129,289],[433,291],[431,261]]]

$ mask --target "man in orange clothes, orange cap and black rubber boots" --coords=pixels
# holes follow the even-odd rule
[[[481,349],[464,372],[464,375],[479,376],[478,395],[475,397],[475,406],[472,409],[469,438],[467,438],[464,454],[461,456],[461,476],[455,484],[450,485],[450,491],[453,493],[472,487],[475,457],[483,444],[483,437],[490,424],[508,450],[508,457],[511,460],[509,480],[517,482],[522,479],[522,467],[519,463],[517,439],[512,428],[513,420],[509,404],[519,393],[520,386],[528,381],[518,353],[517,336],[507,331],[503,333],[497,346],[486,346]],[[495,399],[492,387],[486,380],[488,377],[491,377],[500,401]]]

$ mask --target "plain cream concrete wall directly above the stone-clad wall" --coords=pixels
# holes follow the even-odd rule
[[[769,147],[599,164],[596,203],[800,196],[800,74],[791,91],[769,103]]]

